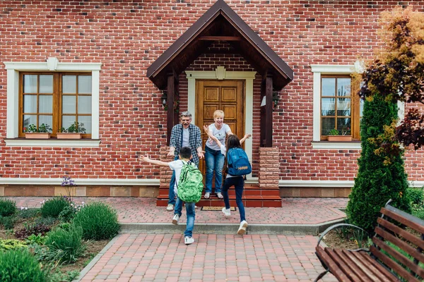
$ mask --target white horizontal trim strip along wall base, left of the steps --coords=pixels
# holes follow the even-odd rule
[[[159,185],[159,179],[72,178],[76,185]],[[62,178],[0,178],[0,185],[57,185]]]

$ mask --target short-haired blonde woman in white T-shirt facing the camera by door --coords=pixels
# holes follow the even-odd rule
[[[224,112],[216,110],[213,112],[213,121],[209,125],[209,132],[220,141],[221,144],[225,144],[225,136],[232,135],[230,126],[224,123]],[[212,178],[213,173],[215,173],[215,192],[216,196],[220,199],[223,198],[221,194],[221,183],[223,180],[223,166],[225,157],[220,152],[219,145],[211,139],[208,138],[206,141],[205,147],[205,161],[206,161],[206,189],[205,189],[205,199],[211,197],[212,192]]]

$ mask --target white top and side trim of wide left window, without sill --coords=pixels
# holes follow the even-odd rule
[[[61,63],[57,58],[50,57],[45,62],[4,62],[4,66],[7,70],[6,138],[18,137],[20,71],[86,71],[92,75],[91,137],[93,140],[99,139],[100,70],[102,63]],[[25,145],[32,145],[30,140],[22,141],[25,142]],[[47,142],[50,141],[52,140],[47,140]],[[10,141],[8,143],[12,144]]]

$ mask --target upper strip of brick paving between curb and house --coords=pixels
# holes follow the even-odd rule
[[[15,200],[17,207],[40,207],[46,197],[7,197]],[[153,197],[74,197],[78,203],[101,201],[117,209],[122,223],[170,223],[172,212],[165,207],[156,207]],[[317,224],[343,219],[346,215],[337,208],[344,208],[346,198],[284,198],[281,208],[247,207],[246,219],[249,223],[261,224]],[[237,212],[225,218],[222,212],[196,209],[196,223],[239,223]],[[181,222],[186,221],[183,209]]]

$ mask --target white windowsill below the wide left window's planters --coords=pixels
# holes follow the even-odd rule
[[[99,147],[99,139],[25,139],[9,138],[5,139],[6,146],[9,147]]]

